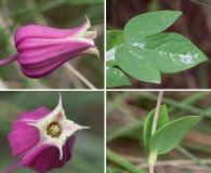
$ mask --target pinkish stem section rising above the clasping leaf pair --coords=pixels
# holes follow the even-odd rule
[[[160,112],[160,105],[162,102],[162,95],[163,95],[163,91],[159,91],[158,101],[157,101],[157,105],[156,105],[156,112],[154,116],[154,122],[153,122],[153,128],[151,128],[151,135],[156,132],[158,117],[159,117],[159,112]]]

